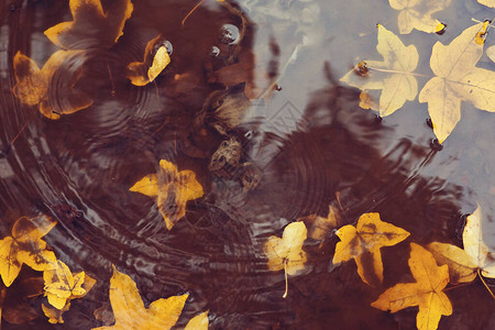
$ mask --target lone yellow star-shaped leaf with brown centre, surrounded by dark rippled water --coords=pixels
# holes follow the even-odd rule
[[[187,201],[202,196],[202,187],[193,170],[177,172],[165,160],[160,161],[157,174],[146,175],[129,190],[155,198],[168,230],[186,216]]]

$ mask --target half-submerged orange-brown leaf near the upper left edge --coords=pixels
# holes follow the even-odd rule
[[[81,62],[80,51],[58,51],[40,69],[34,61],[18,52],[13,59],[13,94],[24,105],[40,105],[40,112],[50,119],[88,108],[92,100],[74,88],[81,74]],[[70,72],[74,66],[76,70]]]

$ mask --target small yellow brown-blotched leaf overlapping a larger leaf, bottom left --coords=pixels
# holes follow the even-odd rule
[[[48,302],[61,310],[64,309],[68,300],[86,296],[89,290],[87,287],[92,287],[96,282],[85,275],[85,272],[73,274],[62,261],[57,261],[55,268],[45,271],[43,278]]]

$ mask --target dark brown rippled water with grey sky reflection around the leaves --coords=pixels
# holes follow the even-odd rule
[[[488,19],[469,2],[441,13],[449,22],[444,35],[403,41],[421,43],[421,54],[437,40],[449,43],[471,16]],[[249,0],[240,1],[239,12],[207,1],[180,29],[196,3],[134,1],[119,42],[87,51],[77,86],[94,105],[53,121],[12,95],[12,64],[18,51],[40,65],[58,50],[43,31],[70,20],[68,1],[1,2],[2,237],[21,216],[50,215],[58,224],[46,241],[57,257],[98,280],[88,296],[72,301],[65,324],[53,326],[41,311],[42,297],[25,299],[40,290],[32,280],[40,274],[24,266],[3,310],[21,306],[30,317],[18,324],[2,320],[3,329],[101,326],[92,311],[108,301],[112,264],[136,282],[145,304],[189,293],[178,327],[209,309],[212,329],[415,329],[417,309],[391,315],[370,306],[384,288],[413,280],[408,242],[383,251],[385,282],[371,288],[353,262],[331,265],[333,233],[321,246],[308,240],[308,272],[289,278],[286,299],[284,274],[267,270],[263,244],[288,222],[327,216],[330,204],[340,204],[345,223],[374,211],[409,231],[414,242],[460,245],[464,216],[479,202],[485,242],[495,248],[495,116],[463,105],[463,120],[439,152],[430,146],[426,105],[408,102],[383,120],[358,107],[359,91],[338,80],[360,54],[376,55],[377,22],[396,29],[387,1]],[[228,44],[224,24],[245,29],[239,44]],[[123,68],[142,61],[146,42],[158,33],[173,46],[170,65],[156,84],[130,85]],[[81,38],[80,45],[90,42]],[[428,54],[421,54],[419,72],[428,72]],[[232,57],[239,59],[233,67]],[[486,59],[480,65],[494,69]],[[245,81],[230,91],[260,94],[273,79],[282,89],[251,101],[244,123],[228,131],[242,142],[241,161],[261,168],[258,186],[245,191],[237,177],[208,170],[226,136],[212,128],[213,119],[197,118],[221,82]],[[53,97],[64,99],[58,89]],[[172,231],[152,199],[129,191],[156,172],[160,160],[194,170],[205,189]],[[442,317],[439,329],[495,327],[495,302],[480,280],[448,296],[453,315]]]

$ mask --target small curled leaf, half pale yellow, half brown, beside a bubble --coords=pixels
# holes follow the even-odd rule
[[[165,69],[170,63],[170,56],[162,35],[156,36],[146,44],[143,62],[133,62],[128,65],[128,78],[132,85],[145,86]]]

